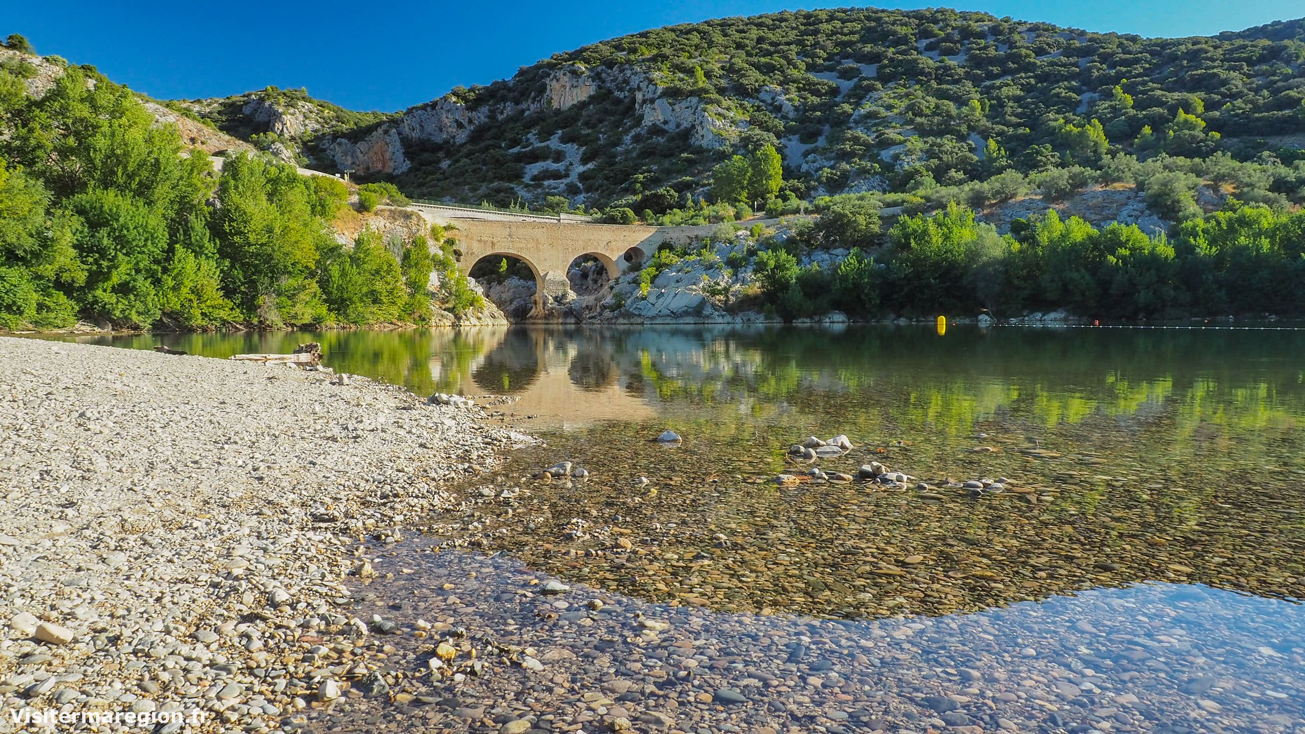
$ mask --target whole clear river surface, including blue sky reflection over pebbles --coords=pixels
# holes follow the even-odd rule
[[[1037,731],[1305,726],[1302,332],[513,328],[102,341],[215,357],[320,341],[335,370],[423,394],[517,397],[493,419],[545,444],[461,487],[496,499],[428,519],[422,546],[448,552],[403,551],[420,558],[397,563],[423,569],[403,589],[476,569],[484,603],[459,615],[502,627],[513,614],[513,624],[552,618],[499,607],[501,589],[557,576],[681,619],[758,670],[783,667],[790,648],[775,640],[796,639],[827,648],[844,680],[865,674],[839,688],[853,700],[850,720],[795,720],[758,703],[746,709],[757,725],[923,731],[959,720],[934,718],[919,695],[960,691],[966,717],[988,730],[1000,718]],[[666,428],[683,443],[651,443]],[[825,471],[880,461],[916,479],[774,482],[810,466],[786,458],[791,444],[835,434],[856,448],[820,460]],[[591,477],[530,478],[559,460]],[[1011,479],[998,495],[945,487],[998,477]],[[857,649],[880,653],[867,663]],[[983,682],[967,683],[958,671],[979,663]],[[800,687],[805,662],[784,665],[773,673]],[[731,670],[707,680],[746,687]],[[1061,679],[1075,680],[1070,694],[1048,688]],[[993,697],[1002,690],[1013,697]],[[1032,700],[1043,690],[1052,705]],[[703,721],[719,721],[713,710],[703,704]]]

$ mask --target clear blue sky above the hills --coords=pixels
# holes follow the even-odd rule
[[[929,5],[1141,35],[1205,35],[1305,16],[1301,0],[878,4]],[[0,37],[21,33],[40,54],[94,64],[114,81],[163,99],[305,86],[315,97],[354,110],[393,111],[455,85],[510,77],[518,67],[604,38],[677,22],[818,7],[830,5],[5,0],[0,3]]]

